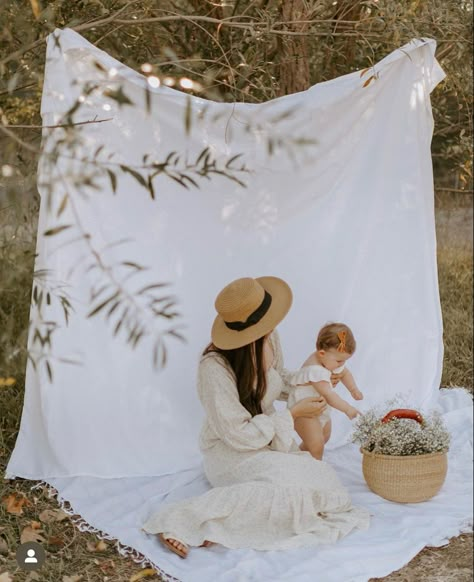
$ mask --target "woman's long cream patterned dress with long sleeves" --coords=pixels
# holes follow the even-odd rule
[[[201,359],[198,393],[206,412],[199,444],[212,489],[164,504],[143,529],[171,532],[191,546],[204,540],[227,548],[285,550],[332,543],[369,526],[369,512],[351,504],[334,469],[301,451],[293,439],[277,332],[267,372],[263,414],[242,406],[232,371],[217,354]]]

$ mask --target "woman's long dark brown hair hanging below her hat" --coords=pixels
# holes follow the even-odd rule
[[[263,360],[265,337],[233,350],[222,350],[211,343],[202,354],[215,352],[225,359],[234,372],[240,402],[252,416],[262,414],[262,400],[267,391]]]

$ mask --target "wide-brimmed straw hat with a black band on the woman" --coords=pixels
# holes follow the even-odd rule
[[[254,342],[280,323],[292,301],[290,287],[278,277],[232,281],[214,303],[218,315],[212,326],[212,343],[230,350]]]

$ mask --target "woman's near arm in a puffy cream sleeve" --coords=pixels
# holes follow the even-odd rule
[[[240,402],[232,372],[219,357],[208,356],[201,360],[198,395],[209,425],[233,449],[258,450],[274,440],[274,450],[290,450],[294,429],[290,410],[285,408],[272,414],[257,414],[252,417]]]

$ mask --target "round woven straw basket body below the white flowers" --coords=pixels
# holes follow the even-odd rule
[[[367,485],[389,501],[418,503],[430,499],[441,489],[448,471],[446,453],[398,457],[360,451]]]

